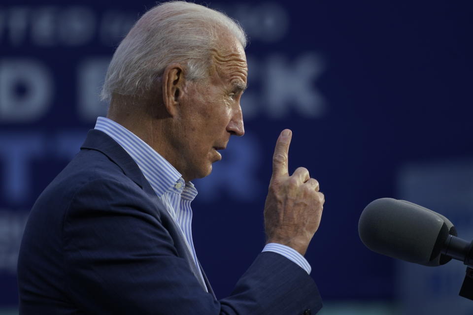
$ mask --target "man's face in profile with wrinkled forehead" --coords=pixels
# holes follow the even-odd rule
[[[186,181],[207,176],[222,157],[230,136],[244,134],[240,97],[246,88],[247,65],[235,39],[222,40],[213,51],[208,79],[189,82],[180,100],[181,169]]]

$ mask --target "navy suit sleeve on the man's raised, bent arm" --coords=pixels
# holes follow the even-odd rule
[[[263,252],[231,296],[215,301],[177,255],[143,192],[95,180],[63,222],[68,295],[87,314],[302,314],[321,308],[315,283],[289,259]]]

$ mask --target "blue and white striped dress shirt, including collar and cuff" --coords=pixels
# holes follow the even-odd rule
[[[203,281],[202,271],[199,267],[192,240],[191,202],[197,195],[194,184],[191,182],[185,183],[182,175],[165,158],[124,126],[108,118],[98,117],[95,129],[109,135],[136,162],[150,186],[166,205],[171,218],[180,227]],[[264,247],[263,252],[277,252],[295,262],[310,274],[311,268],[304,256],[288,246],[270,243]]]

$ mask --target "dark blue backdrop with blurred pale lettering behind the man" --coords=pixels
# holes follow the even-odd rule
[[[1,0],[0,307],[18,303],[15,265],[29,209],[104,115],[97,95],[114,48],[154,4]],[[429,282],[366,249],[357,224],[380,197],[431,200],[442,213],[456,202],[460,236],[469,235],[472,2],[207,4],[240,21],[250,40],[246,134],[232,138],[212,174],[194,182],[194,242],[217,296],[231,292],[264,246],[273,146],[288,127],[290,172],[307,167],[326,196],[306,258],[328,305],[381,303],[388,307],[372,314],[422,314],[419,305],[436,301],[429,314],[452,307],[450,314],[471,315],[473,302],[456,296],[460,263],[450,263],[456,271],[444,283]],[[412,301],[406,287],[419,282],[425,294]],[[451,289],[427,292],[446,283]]]

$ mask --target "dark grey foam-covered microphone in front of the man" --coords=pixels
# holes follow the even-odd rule
[[[473,242],[457,237],[441,214],[405,200],[372,201],[360,216],[358,233],[370,250],[393,258],[425,266],[454,258],[473,265]]]

